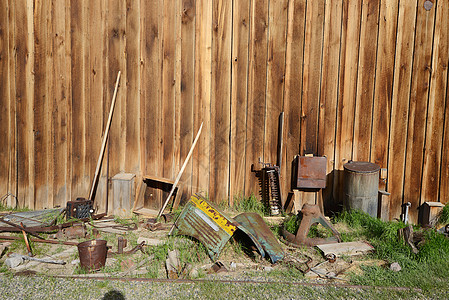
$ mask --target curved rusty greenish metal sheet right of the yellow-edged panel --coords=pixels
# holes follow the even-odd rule
[[[272,263],[276,263],[284,258],[284,250],[259,214],[242,213],[234,217],[234,220],[251,233],[249,236],[253,236],[256,239],[254,241],[256,245],[260,244],[262,246]],[[262,253],[261,255],[265,257]]]

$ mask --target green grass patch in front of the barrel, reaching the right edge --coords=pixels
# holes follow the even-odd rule
[[[423,291],[449,290],[449,239],[434,230],[424,232],[425,243],[414,254],[397,236],[405,227],[402,222],[383,222],[359,212],[343,212],[336,222],[346,223],[350,231],[342,233],[343,241],[365,239],[376,251],[372,258],[398,262],[400,272],[378,266],[363,267],[364,273],[353,275],[352,283],[374,286],[405,286],[421,288]],[[415,231],[422,230],[415,227]]]

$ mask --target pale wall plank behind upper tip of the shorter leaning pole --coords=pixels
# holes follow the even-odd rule
[[[195,22],[195,119],[194,132],[203,129],[193,152],[193,192],[209,191],[210,170],[210,108],[212,65],[212,1],[196,2]],[[195,133],[196,134],[196,133]]]

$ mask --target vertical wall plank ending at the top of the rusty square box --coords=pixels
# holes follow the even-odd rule
[[[301,153],[317,155],[324,1],[308,1],[304,42]]]

